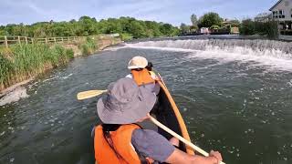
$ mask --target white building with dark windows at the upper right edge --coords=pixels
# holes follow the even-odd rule
[[[278,22],[278,29],[282,35],[292,35],[292,0],[279,0],[270,8],[273,19]]]

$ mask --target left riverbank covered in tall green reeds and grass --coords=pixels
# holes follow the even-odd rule
[[[88,37],[85,42],[75,45],[22,44],[0,47],[0,91],[48,69],[65,65],[74,56],[90,55],[99,50],[99,46],[109,45],[103,42],[99,44]]]

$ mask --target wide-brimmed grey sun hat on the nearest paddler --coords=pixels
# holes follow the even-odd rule
[[[138,87],[131,78],[120,78],[99,98],[97,108],[105,124],[130,124],[146,117],[155,102],[156,96],[149,89]]]

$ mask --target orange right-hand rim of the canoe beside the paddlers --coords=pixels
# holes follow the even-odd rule
[[[183,135],[183,138],[191,141],[191,138],[189,136],[189,132],[184,124],[184,121],[183,121],[183,117],[181,115],[181,112],[179,110],[179,108],[177,108],[173,98],[172,98],[172,95],[171,93],[169,92],[169,90],[167,89],[167,87],[165,86],[165,84],[162,82],[162,81],[158,81],[159,85],[162,87],[166,97],[168,98],[168,100],[170,101],[171,105],[172,105],[172,109],[174,111],[174,114],[175,114],[175,117],[177,118],[179,124],[180,124],[180,128],[182,130],[182,135]],[[194,155],[194,151],[192,148],[186,146],[186,152],[190,155]]]

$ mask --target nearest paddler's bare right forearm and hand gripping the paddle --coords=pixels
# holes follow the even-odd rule
[[[172,155],[166,159],[167,163],[172,164],[218,164],[220,161],[222,161],[221,154],[217,151],[212,151],[209,157],[203,157],[186,154],[180,149],[175,149]]]

